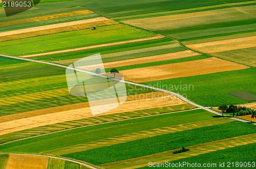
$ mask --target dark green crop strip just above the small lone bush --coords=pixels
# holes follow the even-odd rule
[[[215,126],[143,138],[132,142],[63,155],[93,164],[104,164],[168,150],[255,133],[254,125],[230,122]],[[238,132],[239,131],[239,132]],[[197,138],[197,139],[194,139]]]

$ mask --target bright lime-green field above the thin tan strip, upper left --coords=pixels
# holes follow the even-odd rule
[[[133,31],[132,31],[133,30]],[[3,54],[28,55],[79,48],[97,44],[119,42],[132,39],[151,37],[149,32],[136,29],[123,24],[98,27],[96,30],[80,30],[73,32],[57,33],[13,41],[0,42],[0,50]],[[36,45],[31,46],[31,43]],[[16,50],[13,50],[13,49]]]

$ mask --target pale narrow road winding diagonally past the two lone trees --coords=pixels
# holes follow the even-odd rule
[[[7,58],[13,58],[13,59],[18,59],[18,60],[24,60],[24,61],[28,61],[28,62],[36,62],[36,63],[41,63],[41,64],[47,64],[47,65],[52,65],[52,66],[58,66],[58,67],[62,67],[62,68],[66,68],[66,69],[72,69],[72,70],[75,70],[75,71],[79,71],[79,72],[84,72],[84,73],[88,73],[88,74],[91,74],[91,75],[98,75],[96,73],[93,73],[93,72],[89,72],[89,71],[85,71],[85,70],[81,70],[81,69],[77,69],[77,68],[71,68],[71,67],[68,67],[68,66],[64,66],[64,65],[59,65],[59,64],[54,64],[54,63],[49,63],[49,62],[42,62],[42,61],[36,61],[36,60],[32,60],[32,59],[26,59],[26,58],[19,58],[19,57],[12,57],[10,55],[4,55],[4,54],[0,54],[0,56],[2,57],[7,57]],[[100,75],[101,77],[108,77],[108,76],[104,76],[104,75]],[[138,84],[138,83],[135,83],[135,82],[131,82],[131,81],[126,81],[126,80],[120,80],[120,79],[117,79],[117,78],[111,78],[113,80],[117,80],[117,81],[122,81],[122,82],[125,82],[125,83],[128,83],[128,84],[131,84],[131,85],[136,85],[136,86],[140,86],[140,87],[144,87],[144,88],[148,88],[148,89],[153,89],[153,90],[156,90],[156,91],[161,91],[161,92],[164,92],[164,93],[168,93],[170,95],[173,95],[173,96],[176,96],[178,97],[179,99],[189,103],[189,104],[192,104],[192,105],[195,105],[199,108],[202,108],[206,111],[209,111],[209,112],[212,112],[216,115],[219,115],[219,116],[222,116],[221,113],[217,112],[217,111],[214,111],[214,110],[211,110],[207,107],[204,107],[204,106],[201,106],[199,104],[196,104],[190,100],[188,100],[187,98],[177,94],[177,93],[174,93],[174,92],[170,92],[170,91],[167,91],[167,90],[163,90],[163,89],[159,89],[159,88],[154,88],[154,87],[151,87],[151,86],[146,86],[146,85],[141,85],[141,84]],[[224,117],[227,117],[227,118],[230,118],[230,119],[233,119],[233,120],[237,120],[237,121],[240,121],[240,122],[244,122],[244,123],[249,123],[248,121],[246,120],[243,120],[243,119],[238,119],[238,118],[234,118],[234,117],[230,117],[230,116],[226,116],[224,115]],[[256,123],[252,123],[253,125],[256,125]]]

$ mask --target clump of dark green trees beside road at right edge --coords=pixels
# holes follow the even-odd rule
[[[226,113],[232,113],[233,117],[236,116],[243,116],[243,115],[252,115],[251,118],[256,118],[256,111],[245,107],[245,106],[236,106],[236,105],[222,105],[218,107],[219,110],[222,111],[222,116],[224,116],[224,112]]]

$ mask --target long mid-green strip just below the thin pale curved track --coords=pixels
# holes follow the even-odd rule
[[[155,112],[155,110],[153,110],[153,112]],[[114,122],[84,127],[54,133],[50,135],[30,138],[26,140],[21,140],[18,142],[0,146],[0,151],[23,153],[48,152],[58,148],[86,144],[88,142],[94,142],[96,140],[106,139],[109,137],[115,137],[123,134],[151,130],[155,128],[178,125],[183,123],[214,120],[214,117],[214,115],[204,110],[192,110],[178,112],[175,114],[125,120],[120,121],[119,123]],[[76,139],[73,140],[73,142],[71,142],[70,140],[72,140],[74,136],[76,137]]]

